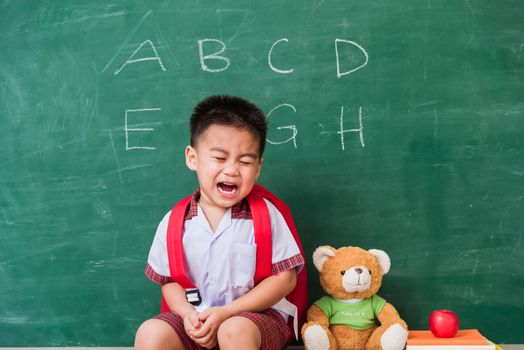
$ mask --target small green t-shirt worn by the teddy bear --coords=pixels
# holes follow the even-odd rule
[[[376,294],[356,303],[338,301],[328,295],[315,302],[327,315],[330,324],[343,324],[357,330],[375,326],[376,315],[385,304],[386,300]]]

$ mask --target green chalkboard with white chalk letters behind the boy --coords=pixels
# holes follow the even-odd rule
[[[268,115],[260,182],[322,244],[386,250],[412,328],[524,343],[524,3],[2,1],[0,346],[130,346],[212,94]],[[311,300],[322,291],[310,264]]]

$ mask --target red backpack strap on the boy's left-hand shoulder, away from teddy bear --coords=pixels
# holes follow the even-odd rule
[[[189,280],[184,260],[184,248],[182,246],[182,233],[184,231],[184,221],[187,208],[191,202],[191,196],[182,199],[175,204],[169,216],[167,225],[167,256],[169,259],[169,270],[171,279],[180,284],[182,288],[195,288]]]

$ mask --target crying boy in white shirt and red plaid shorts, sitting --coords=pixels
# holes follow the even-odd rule
[[[267,124],[254,104],[212,96],[195,107],[186,164],[197,174],[184,221],[183,249],[189,279],[201,304],[171,281],[166,248],[168,213],[159,224],[146,275],[162,285],[172,312],[145,321],[137,349],[263,349],[285,347],[295,316],[283,299],[293,290],[304,258],[280,212],[269,202],[273,275],[256,286],[253,222],[245,198],[260,175]]]

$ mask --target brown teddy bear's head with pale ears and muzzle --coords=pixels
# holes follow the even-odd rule
[[[368,298],[377,293],[382,276],[390,268],[389,256],[378,249],[318,247],[313,263],[320,272],[320,284],[335,299]]]

